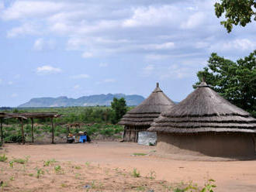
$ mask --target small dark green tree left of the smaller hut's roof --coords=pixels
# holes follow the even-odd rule
[[[113,110],[112,123],[116,124],[126,114],[126,100],[124,98],[113,98],[111,108]]]

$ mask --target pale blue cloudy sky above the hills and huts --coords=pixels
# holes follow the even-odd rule
[[[192,91],[210,53],[256,49],[256,24],[228,34],[214,0],[0,0],[0,106],[30,98]]]

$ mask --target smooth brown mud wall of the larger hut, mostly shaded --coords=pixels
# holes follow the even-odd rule
[[[254,134],[204,133],[193,135],[157,134],[157,151],[206,156],[254,156]]]

